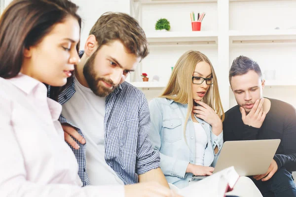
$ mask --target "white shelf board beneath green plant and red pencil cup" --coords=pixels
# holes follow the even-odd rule
[[[153,44],[216,44],[218,33],[213,31],[198,32],[148,32],[148,43]]]

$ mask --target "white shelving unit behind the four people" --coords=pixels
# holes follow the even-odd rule
[[[264,96],[274,98],[277,91],[280,94],[276,94],[275,99],[296,106],[296,101],[288,98],[293,91],[296,97],[296,82],[293,81],[296,73],[296,12],[293,7],[296,7],[296,0],[131,0],[131,14],[140,21],[150,46],[150,55],[140,66],[143,68],[141,72],[148,70],[151,77],[156,70],[163,76],[160,78],[168,79],[169,68],[173,66],[171,62],[177,61],[181,51],[201,51],[215,68],[226,111],[235,103],[229,89],[229,66],[234,58],[245,55],[259,63],[263,75],[265,70],[276,70],[276,79],[266,80],[268,90]],[[200,32],[192,32],[190,19],[185,21],[184,15],[187,12],[189,17],[192,10],[206,10]],[[162,16],[170,21],[170,32],[153,31],[153,24],[148,22],[156,22]],[[285,78],[288,80],[284,82]],[[131,83],[151,99],[159,93],[155,89],[163,89],[167,81]]]

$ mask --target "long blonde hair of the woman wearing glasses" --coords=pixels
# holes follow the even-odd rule
[[[221,117],[222,121],[224,120],[224,111],[220,99],[218,81],[214,67],[212,66],[208,57],[204,54],[198,51],[187,51],[177,61],[171,74],[169,83],[165,88],[164,92],[160,96],[162,98],[171,99],[182,104],[188,104],[184,126],[184,135],[187,121],[193,107],[191,77],[195,70],[195,66],[199,62],[206,62],[211,66],[212,75],[214,79],[213,85],[210,85],[202,101],[209,105],[211,108],[213,108],[218,114],[218,116]]]

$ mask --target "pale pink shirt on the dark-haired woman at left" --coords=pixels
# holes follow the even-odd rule
[[[62,107],[46,95],[27,75],[0,78],[0,197],[123,197],[123,186],[81,188],[58,121]]]

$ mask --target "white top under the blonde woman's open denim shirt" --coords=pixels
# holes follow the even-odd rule
[[[204,165],[208,135],[201,124],[193,122],[193,125],[195,130],[195,164]]]

